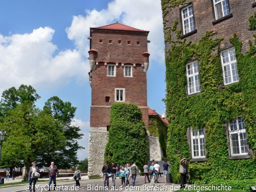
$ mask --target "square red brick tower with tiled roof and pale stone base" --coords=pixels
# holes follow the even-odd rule
[[[92,105],[88,176],[101,176],[108,142],[110,107],[134,103],[148,129],[147,70],[149,31],[113,23],[90,28],[89,73]]]

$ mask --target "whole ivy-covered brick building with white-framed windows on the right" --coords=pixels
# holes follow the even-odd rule
[[[173,180],[256,176],[255,0],[162,0]]]

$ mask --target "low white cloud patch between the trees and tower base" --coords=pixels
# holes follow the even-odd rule
[[[75,125],[80,127],[81,131],[79,133],[83,133],[84,136],[81,140],[78,140],[80,146],[83,146],[84,149],[79,149],[77,151],[77,157],[79,160],[84,160],[88,158],[88,144],[89,144],[89,130],[90,130],[90,122],[82,121],[81,119],[73,119],[71,125]]]

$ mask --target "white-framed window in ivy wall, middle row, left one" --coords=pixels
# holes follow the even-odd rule
[[[201,91],[198,61],[186,65],[188,95]]]

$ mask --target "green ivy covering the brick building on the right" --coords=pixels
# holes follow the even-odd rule
[[[162,4],[165,1],[162,0]],[[169,1],[170,2],[170,1]],[[182,2],[180,2],[182,3]],[[174,4],[173,4],[174,5]],[[163,7],[163,5],[162,5]],[[164,7],[163,7],[164,8]],[[164,18],[163,12],[163,18]],[[254,15],[255,16],[255,15]],[[164,21],[165,22],[165,21]],[[177,26],[177,24],[175,24]],[[255,23],[253,24],[256,26]],[[168,29],[166,29],[168,37]],[[239,82],[222,87],[223,77],[220,62],[222,38],[213,39],[217,32],[208,31],[198,43],[185,40],[165,41],[166,49],[166,114],[169,117],[167,157],[174,182],[179,183],[179,161],[190,159],[187,129],[205,127],[205,162],[190,163],[191,182],[211,183],[214,180],[243,180],[256,177],[254,159],[228,160],[227,125],[231,119],[242,116],[247,132],[247,142],[256,151],[256,46],[249,41],[250,50],[241,52],[242,42],[234,34],[229,39],[236,50]],[[255,37],[255,35],[254,35]],[[186,63],[199,61],[202,91],[193,96],[186,94]]]

